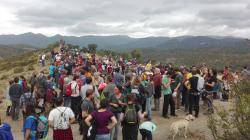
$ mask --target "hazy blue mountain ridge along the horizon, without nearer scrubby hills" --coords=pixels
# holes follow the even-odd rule
[[[48,44],[63,39],[66,43],[81,47],[95,43],[99,49],[130,50],[133,48],[187,48],[187,47],[226,47],[246,46],[249,41],[244,38],[220,36],[180,36],[180,37],[146,37],[129,36],[62,36],[47,37],[43,34],[24,33],[20,35],[0,35],[0,44],[27,44],[44,48]]]

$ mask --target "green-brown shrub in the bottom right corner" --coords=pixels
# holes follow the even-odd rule
[[[208,127],[216,140],[250,139],[250,79],[233,86],[230,109],[215,108]]]

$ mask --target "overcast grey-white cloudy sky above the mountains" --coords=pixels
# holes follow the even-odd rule
[[[250,38],[250,0],[0,0],[0,34]]]

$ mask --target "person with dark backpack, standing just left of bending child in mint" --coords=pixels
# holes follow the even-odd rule
[[[123,140],[137,140],[139,123],[146,113],[142,114],[141,108],[134,103],[135,95],[127,95],[128,105],[121,113]]]

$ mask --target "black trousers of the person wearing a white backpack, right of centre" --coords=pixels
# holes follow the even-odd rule
[[[194,109],[195,117],[198,117],[199,115],[199,101],[200,96],[198,95],[198,93],[189,94],[189,114],[192,114],[192,111]]]

